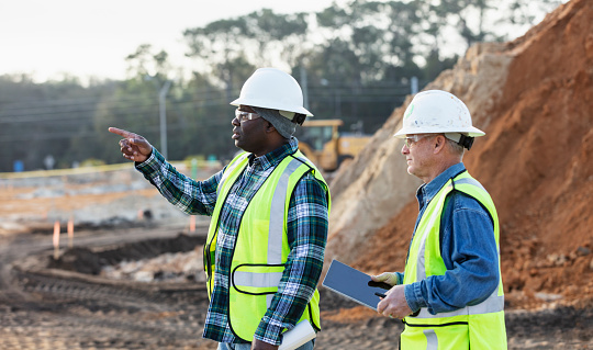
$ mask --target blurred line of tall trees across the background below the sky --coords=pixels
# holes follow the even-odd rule
[[[0,171],[114,163],[122,158],[108,126],[144,135],[159,148],[159,100],[165,84],[168,156],[227,159],[233,106],[259,67],[283,68],[301,82],[315,117],[344,120],[343,132],[373,133],[411,92],[422,89],[475,42],[505,41],[558,0],[350,1],[317,13],[246,15],[187,29],[191,72],[179,74],[167,52],[149,44],[126,57],[124,80],[76,77],[35,83],[0,76]],[[187,67],[186,67],[187,70]],[[176,80],[172,80],[177,76]]]

